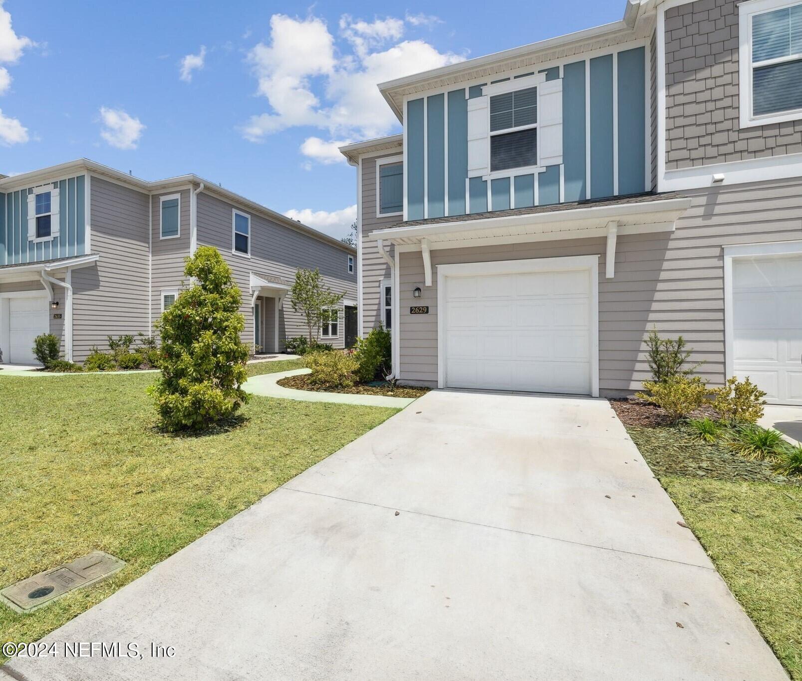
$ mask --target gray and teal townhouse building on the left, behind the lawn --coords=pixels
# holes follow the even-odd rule
[[[0,179],[0,359],[33,363],[34,338],[80,362],[107,335],[153,333],[175,301],[184,258],[213,245],[242,291],[242,340],[277,352],[306,335],[288,294],[318,268],[344,294],[318,338],[356,338],[356,251],[195,175],[148,182],[87,159]]]

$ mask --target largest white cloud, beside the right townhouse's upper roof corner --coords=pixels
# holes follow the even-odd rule
[[[248,57],[258,80],[257,94],[272,109],[251,116],[241,127],[245,139],[253,142],[296,126],[326,130],[332,140],[320,144],[386,135],[398,121],[377,83],[464,59],[441,53],[423,40],[395,43],[403,37],[403,21],[397,18],[365,22],[344,15],[340,28],[353,54],[335,51],[326,23],[314,16],[274,14],[270,28],[268,44],[259,43]]]

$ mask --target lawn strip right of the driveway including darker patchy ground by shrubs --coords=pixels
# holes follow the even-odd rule
[[[627,431],[735,598],[802,681],[802,486],[683,428]]]

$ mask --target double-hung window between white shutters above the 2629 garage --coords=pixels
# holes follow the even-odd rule
[[[490,97],[490,172],[537,165],[537,87]]]

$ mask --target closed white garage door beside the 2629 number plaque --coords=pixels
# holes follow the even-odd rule
[[[445,385],[589,395],[591,271],[445,277]]]

